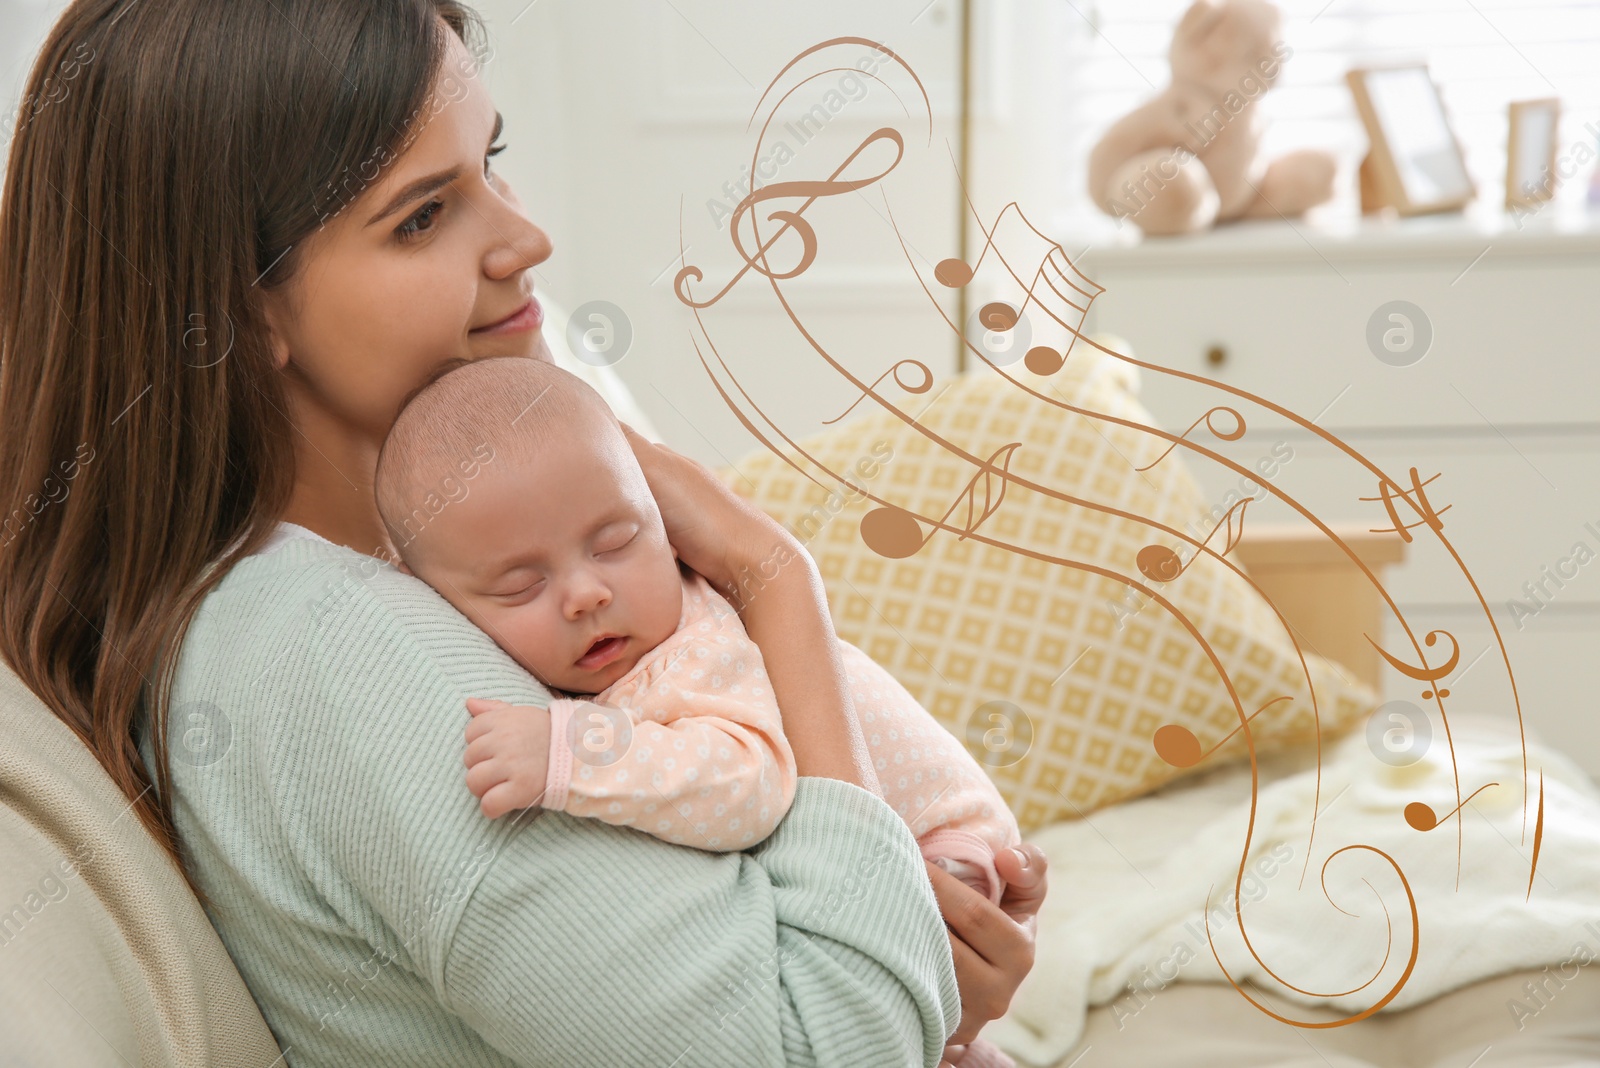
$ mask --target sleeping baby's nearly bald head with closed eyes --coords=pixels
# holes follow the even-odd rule
[[[677,630],[677,553],[634,449],[552,363],[461,361],[416,390],[376,496],[402,569],[550,687],[598,694]]]

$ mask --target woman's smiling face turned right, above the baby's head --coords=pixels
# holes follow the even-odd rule
[[[374,161],[376,181],[346,198],[299,249],[294,278],[266,296],[294,424],[318,451],[376,456],[400,401],[448,358],[552,358],[536,321],[483,329],[533,297],[550,238],[493,173],[499,115],[472,54],[446,37],[421,131]]]

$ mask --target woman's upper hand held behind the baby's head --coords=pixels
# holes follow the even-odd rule
[[[778,520],[728,489],[704,464],[618,422],[634,446],[678,560],[706,576],[718,593],[731,596],[741,577],[774,555],[787,560],[802,552]]]

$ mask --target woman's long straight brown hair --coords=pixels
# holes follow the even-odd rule
[[[450,30],[482,22],[456,0],[77,0],[8,128],[0,657],[197,892],[166,652],[294,484],[261,291],[414,137]]]

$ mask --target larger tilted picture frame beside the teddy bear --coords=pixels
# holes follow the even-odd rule
[[[1458,211],[1477,197],[1427,64],[1357,67],[1344,77],[1371,144],[1362,161],[1363,211]]]

